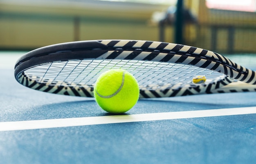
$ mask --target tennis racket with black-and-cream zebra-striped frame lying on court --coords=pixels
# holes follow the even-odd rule
[[[109,69],[132,73],[140,98],[256,91],[256,72],[218,53],[143,40],[89,40],[41,47],[18,59],[14,74],[31,89],[93,97],[97,78]],[[194,83],[196,76],[206,81]]]

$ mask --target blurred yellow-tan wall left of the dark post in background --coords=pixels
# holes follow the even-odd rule
[[[93,0],[0,0],[0,49],[34,49],[76,40],[158,40],[158,27],[150,19],[153,12],[166,9]]]

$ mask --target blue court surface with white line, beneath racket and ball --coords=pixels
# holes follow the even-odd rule
[[[253,164],[256,93],[139,100],[110,115],[93,98],[16,82],[25,52],[0,52],[1,164]],[[256,55],[229,55],[256,69]]]

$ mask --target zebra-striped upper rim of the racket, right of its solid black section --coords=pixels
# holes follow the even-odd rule
[[[253,78],[255,77],[254,71],[248,70],[243,66],[231,62],[229,59],[213,51],[166,42],[130,40],[103,40],[100,42],[106,44],[108,47],[117,48],[115,51],[103,54],[101,58],[150,60],[157,62],[191,64],[224,73],[231,78],[244,81],[249,84],[256,84],[256,78]],[[122,47],[135,48],[135,51],[124,52]],[[212,61],[207,59],[211,59]]]

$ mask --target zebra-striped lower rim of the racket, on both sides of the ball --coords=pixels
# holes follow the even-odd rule
[[[19,78],[20,84],[27,86],[31,89],[35,89],[38,91],[55,93],[60,95],[72,95],[72,96],[80,96],[80,97],[94,97],[93,95],[93,87],[88,86],[86,84],[69,84],[62,82],[59,85],[47,85],[50,84],[51,81],[44,81],[44,83],[40,83],[35,79],[37,77],[27,77],[22,74]],[[215,90],[231,83],[232,80],[229,77],[225,77],[224,80],[216,81],[208,85],[192,85],[188,84],[187,86],[180,87],[178,89],[156,89],[156,90],[148,90],[141,88],[140,89],[140,98],[161,98],[161,97],[175,97],[175,96],[185,96],[185,95],[198,95],[202,93],[217,93]],[[254,89],[256,91],[256,87]],[[215,92],[212,92],[215,91]],[[246,92],[245,90],[244,92]],[[229,93],[236,92],[235,89],[231,91],[222,90],[218,93]],[[238,91],[237,91],[238,92]]]

